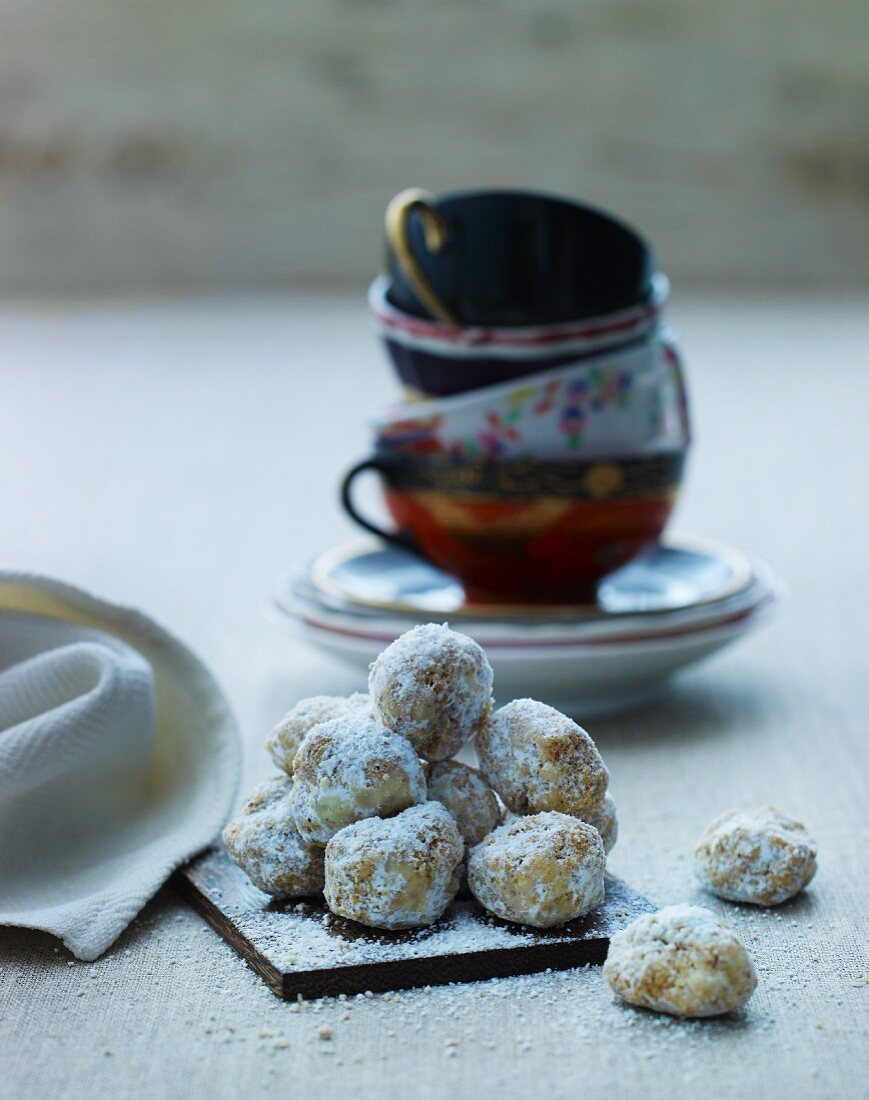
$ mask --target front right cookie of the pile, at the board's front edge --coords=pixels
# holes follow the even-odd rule
[[[468,884],[496,916],[549,928],[603,902],[605,868],[596,828],[568,814],[531,814],[471,849]]]

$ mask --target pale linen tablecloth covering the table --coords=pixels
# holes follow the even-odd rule
[[[351,532],[337,479],[394,386],[363,298],[0,311],[3,563],[138,604],[198,649],[243,725],[246,782],[284,708],[363,686],[264,614],[282,570]],[[0,1096],[869,1094],[869,311],[676,295],[672,319],[697,429],[675,527],[766,558],[791,598],[664,698],[588,727],[620,807],[614,870],[726,913],[759,969],[747,1010],[635,1012],[596,969],[294,1010],[166,888],[92,966],[0,930]],[[772,912],[704,899],[697,834],[769,802],[818,838],[809,893]]]

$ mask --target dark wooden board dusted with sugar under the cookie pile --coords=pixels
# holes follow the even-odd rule
[[[385,992],[566,970],[606,958],[609,937],[654,905],[606,877],[587,917],[540,931],[493,917],[459,898],[430,928],[378,933],[330,913],[322,899],[274,902],[213,848],[182,868],[176,888],[283,998]]]

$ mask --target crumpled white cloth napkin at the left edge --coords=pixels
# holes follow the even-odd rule
[[[0,572],[0,924],[95,959],[235,799],[216,681],[139,612]]]

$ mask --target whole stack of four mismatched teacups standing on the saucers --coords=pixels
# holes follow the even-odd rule
[[[575,602],[653,546],[689,446],[667,279],[628,226],[532,193],[405,191],[371,288],[403,400],[342,499],[482,601]],[[351,483],[382,479],[395,531]]]

